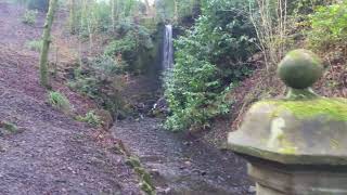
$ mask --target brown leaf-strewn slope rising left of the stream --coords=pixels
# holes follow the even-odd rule
[[[0,135],[0,194],[141,194],[124,156],[102,147],[94,129],[46,103],[37,54],[23,47],[41,29],[23,26],[21,13],[0,1],[0,121],[20,128],[20,133]],[[77,110],[88,106],[66,87],[53,86]]]

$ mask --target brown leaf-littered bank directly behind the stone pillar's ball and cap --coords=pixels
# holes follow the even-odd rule
[[[297,48],[305,48],[305,46],[299,42]],[[323,77],[313,86],[313,90],[320,95],[347,98],[347,58],[345,54],[338,55],[339,50],[336,48],[317,52],[325,67]],[[245,113],[254,102],[285,96],[287,89],[275,72],[266,70],[261,55],[255,55],[253,63],[257,69],[231,93],[234,104],[230,115],[217,119],[213,130],[204,134],[205,139],[215,145],[223,145],[227,142],[228,132],[239,129]]]

